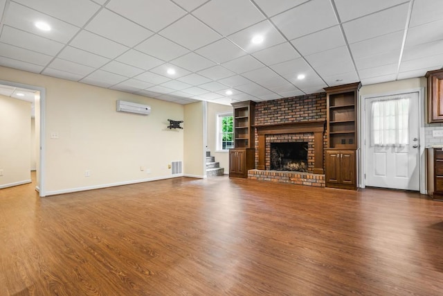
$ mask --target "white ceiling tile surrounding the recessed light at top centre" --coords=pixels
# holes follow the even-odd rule
[[[260,44],[253,44],[251,40],[256,35],[262,35],[264,40]],[[285,42],[283,36],[275,30],[270,21],[262,21],[254,26],[229,35],[228,39],[240,46],[248,53],[254,53],[268,47]]]

